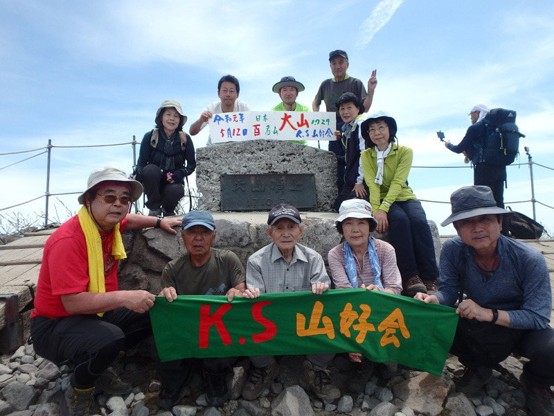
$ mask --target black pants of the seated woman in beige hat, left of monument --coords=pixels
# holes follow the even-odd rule
[[[175,211],[177,203],[185,196],[183,184],[170,184],[166,173],[163,173],[159,166],[146,165],[140,175],[141,184],[148,201],[148,209],[159,209],[163,207],[166,211]]]

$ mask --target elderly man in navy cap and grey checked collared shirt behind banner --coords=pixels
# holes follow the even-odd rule
[[[321,255],[298,244],[304,226],[298,209],[277,205],[269,211],[266,229],[273,243],[250,256],[247,263],[247,290],[242,297],[256,298],[260,293],[312,291],[321,295],[331,283]],[[321,399],[338,399],[341,392],[332,385],[326,367],[334,354],[308,354],[303,363],[301,386]],[[262,395],[280,373],[273,356],[251,356],[254,370],[242,389],[242,397],[253,400]]]

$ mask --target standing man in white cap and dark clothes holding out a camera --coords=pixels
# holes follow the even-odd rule
[[[497,203],[497,207],[504,207],[504,182],[506,182],[506,166],[499,166],[483,162],[483,148],[485,148],[485,138],[487,135],[487,126],[483,119],[489,112],[488,105],[476,104],[470,110],[472,125],[467,128],[462,141],[456,146],[450,141],[445,143],[445,147],[454,153],[463,153],[467,159],[470,159],[473,166],[473,184],[484,185],[492,190],[492,195]],[[509,220],[504,218],[501,232],[508,235]]]

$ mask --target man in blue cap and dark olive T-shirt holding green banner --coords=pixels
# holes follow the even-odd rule
[[[181,237],[187,252],[163,269],[161,279],[166,287],[160,296],[173,302],[177,295],[226,295],[231,302],[244,292],[244,267],[235,253],[212,248],[216,232],[213,216],[207,211],[190,211],[183,217]],[[209,406],[221,406],[226,401],[226,370],[235,361],[236,357],[204,358]],[[190,369],[186,360],[157,360],[156,369],[162,379],[158,406],[171,409],[181,400]]]

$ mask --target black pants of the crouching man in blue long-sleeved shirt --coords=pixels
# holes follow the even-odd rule
[[[529,358],[524,372],[532,385],[554,385],[554,329],[511,329],[460,318],[450,349],[466,367],[494,367],[512,352]]]

